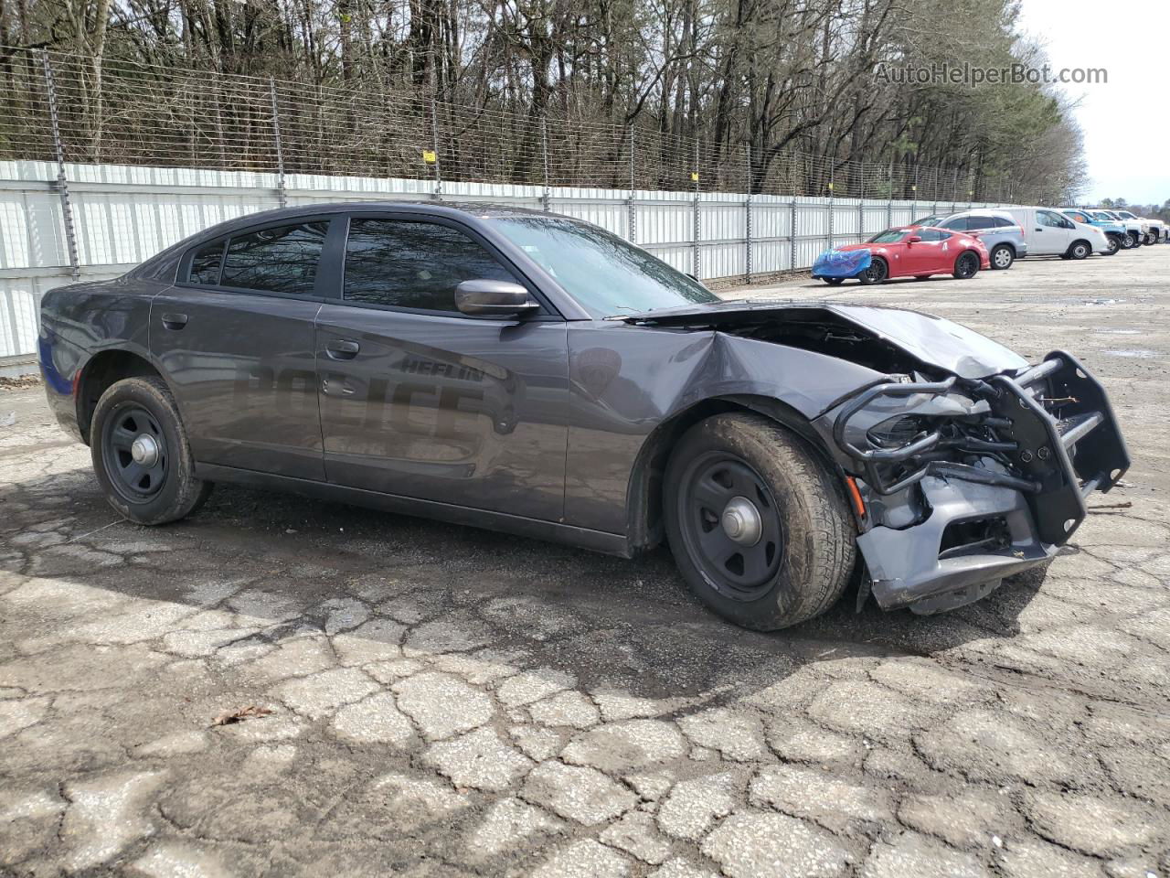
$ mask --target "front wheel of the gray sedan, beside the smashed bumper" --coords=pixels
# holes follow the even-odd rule
[[[849,581],[856,531],[840,479],[768,418],[716,414],[693,426],[670,457],[663,499],[680,572],[737,625],[805,622]]]

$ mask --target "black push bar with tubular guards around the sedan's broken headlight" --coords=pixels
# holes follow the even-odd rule
[[[834,444],[879,495],[928,475],[1011,488],[1057,543],[1085,517],[1085,498],[1129,466],[1103,389],[1068,354],[985,380],[921,378],[890,376],[844,400],[834,419]]]

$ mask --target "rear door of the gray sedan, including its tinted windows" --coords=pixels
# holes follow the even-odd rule
[[[151,303],[150,347],[201,464],[324,479],[314,322],[329,218],[193,247]]]

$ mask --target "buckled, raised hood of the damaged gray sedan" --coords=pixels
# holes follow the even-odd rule
[[[731,331],[762,323],[842,323],[885,341],[928,366],[961,378],[986,378],[1027,366],[1027,361],[964,325],[922,311],[838,302],[758,302],[741,300],[684,306],[615,320],[680,329]]]

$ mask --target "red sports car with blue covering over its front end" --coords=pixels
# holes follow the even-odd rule
[[[821,253],[812,276],[837,286],[846,277],[882,283],[889,277],[925,280],[932,274],[973,277],[991,268],[986,245],[973,235],[931,226],[887,228],[865,243],[848,243]]]

